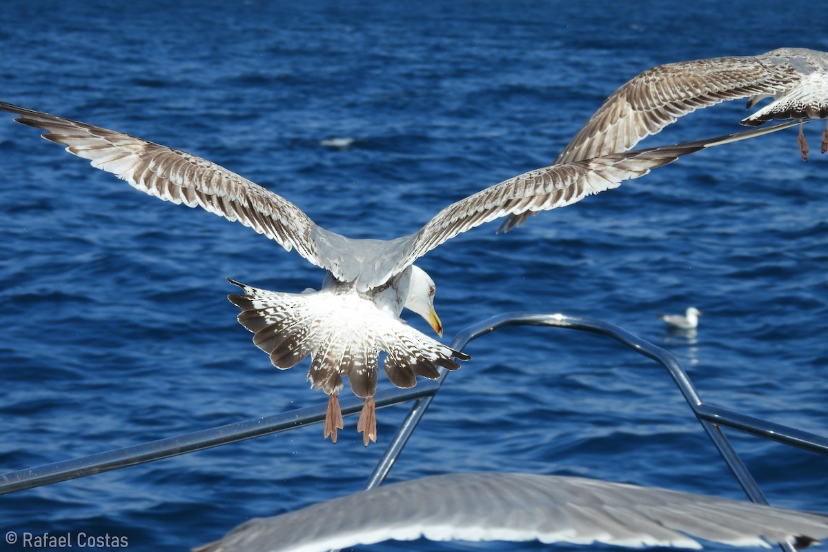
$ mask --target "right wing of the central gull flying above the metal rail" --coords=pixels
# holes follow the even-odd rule
[[[756,128],[724,137],[612,153],[586,161],[530,170],[460,199],[441,210],[419,231],[407,237],[407,250],[402,252],[392,274],[402,271],[416,261],[417,257],[425,255],[446,240],[496,218],[534,214],[574,204],[587,195],[617,188],[624,180],[646,175],[650,170],[672,163],[694,151],[739,142],[797,124],[799,122],[796,121],[782,122],[772,127]],[[507,230],[511,228],[508,221],[503,227]]]

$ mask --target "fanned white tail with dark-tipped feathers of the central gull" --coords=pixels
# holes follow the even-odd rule
[[[238,322],[253,332],[253,343],[281,369],[310,355],[308,381],[329,395],[341,391],[342,377],[348,377],[355,395],[373,396],[383,350],[384,371],[398,387],[415,386],[417,376],[439,377],[437,367],[456,370],[460,363],[452,357],[469,359],[359,295],[280,293],[230,282],[244,291],[228,299],[242,310]]]

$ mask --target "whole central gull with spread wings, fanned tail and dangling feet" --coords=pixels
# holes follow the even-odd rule
[[[325,269],[319,291],[279,293],[231,280],[244,293],[229,300],[242,310],[239,323],[255,334],[253,342],[270,354],[274,366],[293,367],[310,355],[308,380],[329,396],[323,435],[333,442],[343,427],[337,395],[342,377],[348,377],[351,390],[365,400],[357,429],[366,446],[377,435],[373,395],[381,352],[386,352],[385,374],[399,387],[415,386],[417,376],[439,377],[437,367],[455,370],[460,367],[455,358],[469,358],[400,318],[407,308],[442,334],[433,307],[435,284],[413,265],[418,257],[496,218],[573,204],[693,151],[795,124],[531,170],[449,205],[414,233],[383,241],[325,230],[281,195],[185,151],[10,103],[0,103],[0,109],[137,190],[238,221]]]

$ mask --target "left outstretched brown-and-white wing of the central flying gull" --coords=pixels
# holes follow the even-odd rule
[[[91,161],[126,180],[132,187],[157,198],[238,221],[296,251],[317,266],[315,242],[319,228],[290,201],[211,161],[122,132],[55,117],[11,103],[0,109],[15,113],[17,122],[45,130],[44,138],[66,146],[66,151]]]

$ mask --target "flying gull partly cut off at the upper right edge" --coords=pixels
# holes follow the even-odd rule
[[[763,98],[773,102],[741,123],[758,126],[772,119],[828,118],[828,53],[778,48],[762,55],[715,57],[657,65],[623,84],[596,111],[556,157],[566,163],[628,151],[643,138],[696,109],[726,100]],[[807,160],[802,126],[799,144]],[[828,149],[828,127],[822,134]],[[519,226],[531,212],[510,215],[501,226]]]

